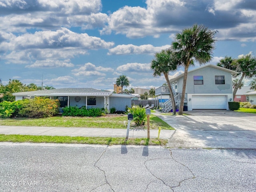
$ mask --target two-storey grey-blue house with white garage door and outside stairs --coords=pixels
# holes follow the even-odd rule
[[[238,72],[208,64],[194,70],[188,71],[184,110],[193,109],[226,109],[228,102],[233,100],[232,75]],[[182,92],[184,73],[170,80],[172,89],[176,93],[176,107],[179,107]],[[156,95],[168,95],[168,87],[156,89]],[[163,111],[172,109],[169,99],[163,105]]]

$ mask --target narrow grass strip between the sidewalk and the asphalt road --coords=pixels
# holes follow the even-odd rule
[[[167,140],[148,138],[111,138],[111,137],[70,137],[70,136],[33,136],[0,134],[0,142],[32,142],[32,143],[68,143],[68,144],[102,144],[102,145],[161,145]]]

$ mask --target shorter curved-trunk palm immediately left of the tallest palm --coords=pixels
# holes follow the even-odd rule
[[[169,72],[177,70],[177,65],[175,64],[172,57],[172,50],[166,49],[161,52],[155,53],[155,58],[151,61],[151,69],[154,70],[153,76],[161,76],[164,74],[164,78],[168,84],[170,90],[170,96],[172,98],[172,113],[176,114],[176,104],[174,100],[174,93],[172,92],[172,87],[169,80]]]

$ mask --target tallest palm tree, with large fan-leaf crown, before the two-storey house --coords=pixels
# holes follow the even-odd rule
[[[215,34],[216,31],[214,30],[210,30],[203,25],[194,24],[191,28],[186,28],[181,33],[177,33],[174,38],[175,41],[172,42],[174,58],[179,61],[179,65],[184,66],[179,115],[183,114],[188,67],[194,64],[194,60],[200,65],[212,60],[214,43],[216,42]]]

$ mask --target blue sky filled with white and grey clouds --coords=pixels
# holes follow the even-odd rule
[[[154,53],[195,23],[218,30],[211,64],[256,55],[255,0],[0,0],[0,79],[112,90],[122,74],[158,87]]]

